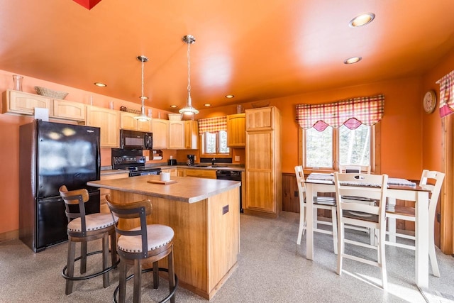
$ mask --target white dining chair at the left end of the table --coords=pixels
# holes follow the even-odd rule
[[[301,165],[295,166],[295,175],[297,176],[298,193],[299,193],[299,230],[297,244],[301,245],[301,238],[306,230],[306,183],[304,182],[304,171]],[[319,233],[326,233],[333,236],[333,250],[338,253],[338,231],[337,231],[337,218],[336,218],[336,198],[334,197],[314,197],[314,231]],[[328,209],[331,210],[331,222],[317,220],[317,210]],[[309,214],[310,216],[311,214]],[[318,224],[331,226],[331,231],[318,228]]]

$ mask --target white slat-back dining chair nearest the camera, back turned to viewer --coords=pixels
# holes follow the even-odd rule
[[[338,214],[338,275],[342,274],[343,259],[348,258],[361,263],[377,266],[381,269],[382,287],[387,289],[387,272],[384,257],[384,239],[386,236],[386,216],[384,214],[387,194],[387,175],[370,175],[358,173],[334,173],[334,185],[336,187],[337,214]],[[358,202],[343,202],[341,197],[355,196],[376,199],[378,205],[363,204]],[[383,202],[383,203],[382,203]],[[365,243],[359,239],[345,238],[345,224],[373,228],[377,231],[377,246]],[[355,245],[362,248],[377,250],[377,260],[362,258],[360,251],[348,250],[345,252],[345,244]],[[350,247],[349,247],[350,248]]]

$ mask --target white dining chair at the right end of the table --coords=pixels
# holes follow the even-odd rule
[[[441,192],[441,185],[445,174],[443,172],[423,170],[421,175],[421,180],[419,181],[419,186],[431,190],[430,199],[428,203],[428,219],[429,219],[429,229],[428,231],[428,255],[431,260],[432,272],[436,277],[440,277],[440,270],[438,269],[437,257],[435,253],[435,239],[434,239],[434,230],[433,226],[435,224],[435,213],[438,204],[438,197]],[[427,184],[428,180],[431,180],[433,184]],[[411,206],[400,206],[395,204],[395,200],[390,200],[386,208],[386,216],[388,221],[388,234],[389,239],[386,241],[387,245],[397,246],[400,248],[406,248],[415,250],[414,245],[408,245],[404,243],[397,242],[397,238],[406,238],[415,240],[415,236],[411,236],[404,233],[396,232],[396,219],[402,219],[406,221],[415,221],[415,209]],[[423,232],[423,231],[422,231]]]

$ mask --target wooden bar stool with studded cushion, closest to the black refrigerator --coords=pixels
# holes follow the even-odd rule
[[[59,189],[60,196],[65,201],[68,219],[68,255],[67,265],[62,270],[66,279],[66,294],[71,294],[74,280],[87,280],[103,275],[104,288],[109,287],[109,271],[116,268],[116,235],[115,224],[110,214],[85,214],[84,203],[89,200],[87,189],[68,191],[65,185]],[[70,206],[78,206],[79,212],[71,211]],[[109,266],[109,236],[111,237],[111,266]],[[102,250],[87,254],[87,242],[102,239]],[[76,242],[80,243],[80,257],[75,258]],[[87,256],[102,253],[102,270],[92,275],[87,272]],[[80,260],[80,276],[74,276],[74,263]]]

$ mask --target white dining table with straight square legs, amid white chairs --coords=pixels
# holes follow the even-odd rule
[[[311,174],[306,178],[306,214],[314,214],[317,192],[336,192],[332,174]],[[428,189],[418,185],[388,184],[387,198],[414,201],[416,285],[428,288]],[[310,198],[312,197],[312,199]],[[314,260],[314,216],[306,216],[306,258]]]

